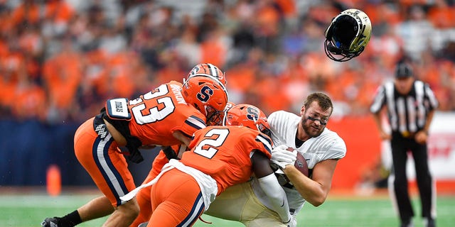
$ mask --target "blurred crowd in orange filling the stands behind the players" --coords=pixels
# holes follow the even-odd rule
[[[370,16],[373,36],[333,62],[323,32],[348,8]],[[84,121],[200,62],[226,72],[230,101],[266,114],[323,91],[334,114],[365,115],[403,56],[455,111],[454,0],[4,0],[0,21],[1,118]]]

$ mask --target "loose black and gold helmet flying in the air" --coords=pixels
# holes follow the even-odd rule
[[[327,57],[337,62],[346,62],[360,55],[370,41],[370,18],[361,10],[346,9],[333,18],[325,35],[324,50]]]

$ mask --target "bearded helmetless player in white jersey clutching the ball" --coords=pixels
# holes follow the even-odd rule
[[[276,111],[267,118],[274,143],[272,162],[279,165],[290,181],[283,188],[294,217],[305,201],[313,206],[326,201],[336,164],[346,155],[343,139],[326,128],[332,111],[331,99],[316,92],[307,96],[300,116]],[[304,155],[309,177],[294,167],[295,153],[286,150],[288,147]],[[257,187],[257,179],[253,178],[250,182],[228,188],[213,201],[205,214],[240,221],[250,227],[296,226],[296,222],[284,225],[277,213],[269,209],[269,204],[267,196]]]

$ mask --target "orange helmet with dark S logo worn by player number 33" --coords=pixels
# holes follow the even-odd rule
[[[182,87],[183,99],[193,105],[207,118],[207,125],[220,125],[223,111],[228,103],[228,92],[213,77],[193,76],[185,80]]]

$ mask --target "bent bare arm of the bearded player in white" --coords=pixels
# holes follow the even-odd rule
[[[293,165],[288,165],[284,170],[289,180],[294,184],[301,196],[313,206],[319,206],[326,201],[331,189],[333,172],[338,160],[323,160],[316,164],[311,179],[303,175]]]

